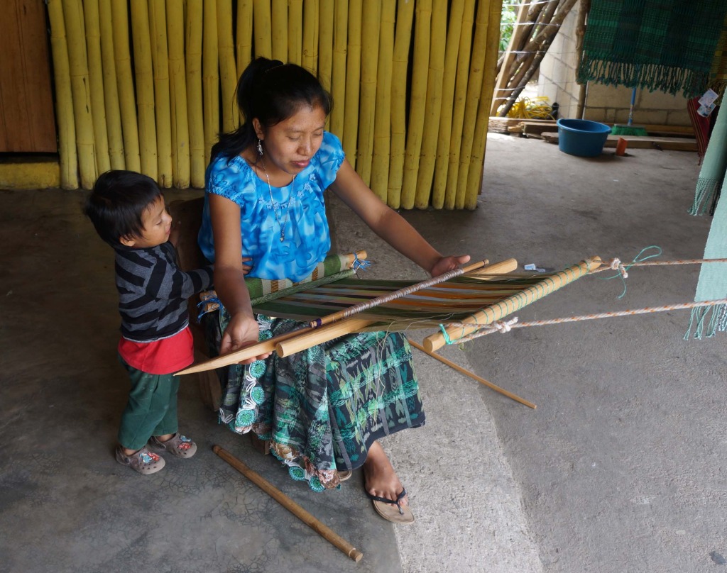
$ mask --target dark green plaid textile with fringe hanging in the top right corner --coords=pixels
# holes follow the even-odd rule
[[[593,0],[578,79],[701,95],[726,15],[725,0]]]

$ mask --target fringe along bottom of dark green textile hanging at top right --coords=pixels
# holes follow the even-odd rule
[[[579,83],[597,81],[614,86],[638,87],[649,92],[661,90],[672,95],[680,90],[685,97],[694,97],[704,91],[710,73],[687,70],[659,64],[609,62],[584,56],[578,70]]]

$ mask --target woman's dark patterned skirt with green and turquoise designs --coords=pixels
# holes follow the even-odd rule
[[[229,320],[224,308],[205,315],[215,351]],[[262,314],[257,322],[261,341],[301,326]],[[425,422],[411,346],[401,333],[351,334],[218,373],[220,423],[270,440],[290,476],[316,491],[337,487],[339,471],[360,467],[374,440]]]

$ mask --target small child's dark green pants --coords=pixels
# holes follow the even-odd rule
[[[177,432],[177,391],[179,377],[173,374],[148,374],[126,364],[132,383],[129,401],[121,414],[119,443],[127,450],[140,450],[151,436]]]

